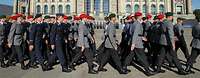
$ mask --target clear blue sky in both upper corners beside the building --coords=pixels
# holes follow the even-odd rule
[[[192,9],[200,9],[200,0],[192,0]],[[0,4],[13,5],[13,0],[0,0]]]

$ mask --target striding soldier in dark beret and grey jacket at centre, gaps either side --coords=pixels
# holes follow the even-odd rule
[[[101,59],[99,62],[100,65],[99,65],[98,71],[102,71],[102,72],[107,71],[107,69],[105,69],[104,66],[109,60],[112,59],[118,68],[118,72],[120,74],[127,74],[128,72],[122,69],[120,58],[117,53],[118,42],[116,39],[116,30],[115,30],[115,26],[117,23],[116,15],[113,13],[110,14],[109,20],[110,22],[106,25],[105,30],[104,30],[103,37],[105,40],[105,50],[102,53],[102,55],[100,55]]]

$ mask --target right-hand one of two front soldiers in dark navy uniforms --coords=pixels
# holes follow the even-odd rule
[[[52,50],[55,50],[61,66],[62,72],[71,72],[68,68],[67,61],[65,57],[65,44],[67,43],[67,27],[63,23],[64,14],[56,14],[57,23],[52,26],[50,33],[50,43]]]

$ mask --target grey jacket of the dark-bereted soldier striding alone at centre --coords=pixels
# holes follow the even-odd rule
[[[113,23],[109,23],[106,25],[105,29],[104,29],[104,39],[105,36],[109,36],[109,38],[107,37],[105,40],[105,47],[106,48],[117,48],[117,39],[116,39],[116,28],[115,28],[115,24]]]

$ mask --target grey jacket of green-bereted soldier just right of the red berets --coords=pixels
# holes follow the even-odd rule
[[[174,43],[174,29],[171,21],[163,21],[163,32],[160,35],[159,44],[172,46]]]

